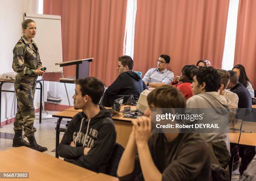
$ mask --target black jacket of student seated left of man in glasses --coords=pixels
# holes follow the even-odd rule
[[[108,87],[105,92],[105,98],[108,99],[108,104],[104,106],[112,106],[117,95],[133,95],[138,101],[140,94],[145,89],[148,89],[141,77],[133,71],[121,73],[117,79]]]

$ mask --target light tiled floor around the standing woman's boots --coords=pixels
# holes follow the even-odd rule
[[[56,128],[56,121],[57,118],[53,118],[51,115],[56,113],[54,111],[47,111],[48,115],[46,116],[46,113],[42,115],[42,123],[39,123],[39,120],[36,119],[34,121],[34,126],[37,129],[35,133],[36,142],[41,145],[48,148],[48,151],[45,151],[44,153],[55,156],[55,128]],[[39,116],[36,116],[38,118]],[[63,119],[61,121],[61,127],[65,128],[65,124],[67,123],[67,120],[69,119]],[[60,133],[60,140],[62,139],[63,132]],[[24,135],[24,132],[23,132]],[[13,148],[13,123],[7,124],[0,128],[0,151]],[[26,141],[27,138],[23,136]]]

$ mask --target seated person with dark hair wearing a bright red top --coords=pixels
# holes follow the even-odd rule
[[[193,96],[191,83],[193,82],[193,75],[198,70],[196,65],[185,65],[182,68],[182,75],[176,76],[171,85],[176,86],[184,95],[185,99]]]

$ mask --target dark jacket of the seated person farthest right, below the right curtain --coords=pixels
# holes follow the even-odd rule
[[[230,91],[238,95],[238,108],[251,108],[251,95],[243,84],[236,84]]]

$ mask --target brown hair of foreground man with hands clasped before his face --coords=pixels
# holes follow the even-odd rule
[[[163,96],[164,95],[164,96]],[[148,94],[148,105],[156,108],[185,108],[183,94],[174,86],[163,85]]]

